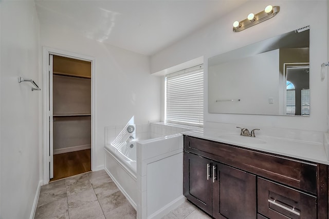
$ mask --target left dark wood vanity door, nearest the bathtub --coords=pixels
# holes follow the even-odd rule
[[[207,213],[212,213],[211,160],[184,153],[184,195]]]

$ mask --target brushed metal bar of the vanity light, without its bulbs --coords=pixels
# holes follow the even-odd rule
[[[252,21],[250,21],[247,18],[247,19],[244,19],[243,21],[239,22],[239,26],[233,27],[233,32],[240,32],[249,27],[262,23],[262,22],[268,20],[269,18],[274,17],[279,11],[280,11],[279,6],[273,6],[271,12],[269,12],[269,13],[266,13],[265,11],[261,11],[254,15]]]

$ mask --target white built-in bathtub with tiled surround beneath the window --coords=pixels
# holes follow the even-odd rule
[[[161,123],[134,126],[133,133],[126,133],[127,126],[105,128],[105,171],[138,219],[161,218],[185,201],[180,133],[190,129]],[[164,183],[166,178],[175,180]]]

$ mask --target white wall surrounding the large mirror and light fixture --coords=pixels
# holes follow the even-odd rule
[[[242,32],[232,31],[234,21],[242,21],[249,13],[258,13],[269,4],[280,6],[280,12],[275,17]],[[327,59],[326,4],[327,1],[275,1],[275,3],[248,1],[217,22],[153,55],[151,72],[168,69],[203,55],[207,66],[208,58],[216,54],[310,25],[311,115],[309,117],[208,113],[208,75],[205,68],[205,122],[325,131],[327,85],[320,81],[319,75],[322,60]]]

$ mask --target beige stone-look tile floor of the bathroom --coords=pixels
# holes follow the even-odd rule
[[[41,187],[35,219],[131,219],[136,210],[104,170],[71,176]],[[185,202],[163,219],[210,218]]]

